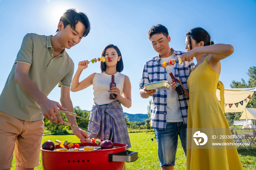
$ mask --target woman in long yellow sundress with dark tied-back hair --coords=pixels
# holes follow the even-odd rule
[[[188,52],[181,57],[182,61],[191,61],[193,57],[197,61],[187,80],[188,91],[185,89],[185,94],[189,96],[187,170],[242,170],[224,115],[224,86],[218,81],[221,73],[220,60],[234,52],[233,46],[214,45],[210,34],[200,27],[193,28],[186,34],[185,44]],[[217,88],[221,90],[220,102],[216,96]],[[208,143],[205,138],[204,142],[201,142],[202,138],[196,138],[202,137],[196,136],[202,132],[208,135]],[[215,139],[212,135],[216,136]],[[212,142],[216,141],[228,143],[228,146],[212,146]],[[201,144],[204,146],[200,146]]]

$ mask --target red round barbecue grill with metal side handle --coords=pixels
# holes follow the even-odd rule
[[[80,147],[99,147],[95,143],[78,144]],[[138,159],[138,152],[129,151],[126,147],[127,144],[113,143],[112,149],[74,152],[49,151],[41,148],[42,165],[44,170],[123,170],[125,162],[134,162]],[[55,148],[61,147],[58,144]]]

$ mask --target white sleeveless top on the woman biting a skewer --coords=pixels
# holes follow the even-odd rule
[[[124,77],[125,75],[117,72],[114,74],[115,83],[117,88],[120,90],[120,95],[123,95],[124,89]],[[93,101],[98,105],[109,104],[114,100],[109,99],[109,84],[111,82],[111,75],[106,74],[105,72],[96,73],[93,78]]]

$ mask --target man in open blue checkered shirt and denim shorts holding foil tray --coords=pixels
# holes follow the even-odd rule
[[[183,85],[181,85],[182,88],[188,90],[187,79],[195,65],[193,61],[186,61],[182,64],[176,62],[174,66],[161,66],[161,63],[171,59],[178,61],[178,57],[185,53],[169,47],[171,38],[165,26],[161,24],[153,26],[148,32],[148,39],[158,55],[144,64],[139,83],[140,96],[142,98],[152,96],[151,127],[155,130],[160,166],[162,170],[172,170],[175,163],[178,135],[185,155],[187,153],[186,128],[189,98],[186,93],[188,92],[179,96],[173,89],[146,90],[144,85],[162,80],[173,83],[172,78],[168,75],[172,72]]]

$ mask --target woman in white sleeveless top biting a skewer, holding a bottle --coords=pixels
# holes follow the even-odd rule
[[[106,46],[102,51],[102,56],[106,60],[103,60],[105,62],[101,61],[101,72],[93,73],[80,82],[79,77],[82,71],[88,67],[89,61],[79,62],[78,70],[72,80],[70,89],[72,92],[78,92],[93,85],[94,103],[90,120],[99,124],[89,122],[90,138],[125,143],[129,148],[131,143],[121,104],[127,108],[132,105],[131,82],[128,76],[120,73],[124,65],[121,52],[117,46],[112,44]],[[114,75],[116,87],[109,89],[112,75]],[[110,94],[116,96],[114,100],[109,99]],[[124,94],[124,97],[122,94]]]

